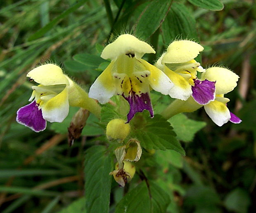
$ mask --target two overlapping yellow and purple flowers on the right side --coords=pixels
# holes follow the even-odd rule
[[[155,66],[168,75],[174,83],[169,94],[177,98],[165,112],[170,116],[180,112],[193,112],[202,106],[218,126],[228,121],[240,123],[242,120],[227,108],[228,98],[224,94],[237,86],[239,76],[222,67],[204,69],[194,58],[204,48],[196,42],[180,40],[172,42]],[[201,77],[197,77],[197,72]],[[168,117],[168,116],[167,116]]]

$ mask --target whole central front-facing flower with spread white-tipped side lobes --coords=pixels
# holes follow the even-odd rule
[[[89,97],[104,104],[114,95],[123,96],[130,105],[128,122],[136,112],[143,110],[148,110],[153,117],[150,87],[167,95],[173,84],[161,70],[141,59],[145,53],[155,51],[149,44],[130,34],[120,35],[108,44],[101,57],[111,59],[111,63],[90,87]]]

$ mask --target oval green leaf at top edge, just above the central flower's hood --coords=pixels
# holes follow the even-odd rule
[[[154,0],[149,3],[138,19],[135,34],[148,39],[161,26],[170,6],[170,0]]]

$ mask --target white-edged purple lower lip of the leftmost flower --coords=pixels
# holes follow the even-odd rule
[[[17,111],[16,120],[35,132],[43,131],[46,128],[46,120],[43,119],[42,110],[38,110],[36,101],[21,107]]]

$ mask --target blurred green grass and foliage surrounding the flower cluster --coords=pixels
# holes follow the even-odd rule
[[[254,0],[6,0],[0,5],[2,213],[72,213],[85,212],[85,207],[89,212],[100,212],[96,211],[99,208],[119,213],[127,206],[127,212],[255,211]],[[97,118],[90,115],[83,136],[72,147],[67,145],[66,128],[76,108],[62,124],[48,123],[43,133],[34,133],[15,121],[18,108],[28,103],[31,94],[28,70],[54,61],[88,90],[109,63],[100,58],[104,44],[113,39],[111,33],[120,32],[135,33],[159,54],[175,38],[201,42],[205,49],[198,60],[204,67],[218,63],[240,76],[238,87],[228,98],[231,111],[243,120],[217,127],[204,110],[176,115],[169,122],[186,156],[165,148],[155,153],[143,150],[137,163],[142,169],[125,188],[119,188],[108,175],[107,168],[113,163],[102,154],[104,126],[98,125]],[[153,62],[157,56],[147,59]],[[159,99],[156,93],[152,100],[153,105],[161,103],[155,105],[156,113],[169,101]],[[107,111],[109,116],[114,113]],[[102,117],[102,122],[107,119],[108,115]],[[140,135],[142,140],[145,133]],[[92,146],[95,143],[99,146]],[[148,148],[153,148],[153,143],[148,143]],[[92,162],[93,171],[89,171],[86,165]],[[145,178],[152,182],[146,183]],[[84,185],[90,189],[92,180],[100,181],[102,188],[92,188],[83,197]],[[108,199],[110,191],[108,207],[102,200]],[[98,199],[97,192],[103,197]],[[93,199],[98,199],[96,204]]]

